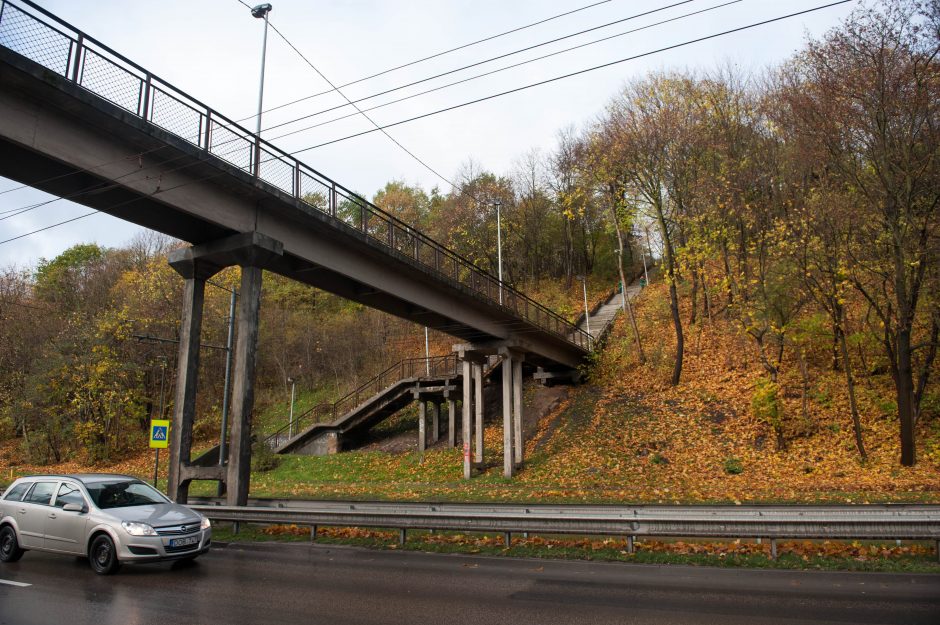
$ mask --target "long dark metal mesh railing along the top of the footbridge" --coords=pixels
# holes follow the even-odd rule
[[[175,88],[31,0],[0,0],[0,45],[277,191],[389,253],[588,351],[589,334],[291,154]]]

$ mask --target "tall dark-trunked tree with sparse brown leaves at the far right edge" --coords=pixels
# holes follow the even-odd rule
[[[787,94],[862,216],[851,280],[878,318],[907,466],[916,461],[915,415],[936,354],[934,311],[924,340],[914,334],[924,290],[938,286],[928,282],[930,268],[940,263],[938,10],[911,0],[860,7],[798,56]]]

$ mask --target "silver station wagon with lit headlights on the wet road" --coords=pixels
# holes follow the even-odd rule
[[[23,477],[0,499],[0,562],[48,551],[109,575],[125,562],[192,560],[211,539],[209,519],[127,475]]]

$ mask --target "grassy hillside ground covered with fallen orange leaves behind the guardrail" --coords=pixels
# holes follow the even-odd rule
[[[676,388],[669,385],[672,347],[660,338],[669,336],[667,302],[661,284],[645,289],[636,301],[647,364],[636,362],[632,335],[621,316],[587,383],[572,389],[527,388],[530,419],[534,404],[537,410],[549,410],[530,424],[526,467],[511,481],[500,475],[502,427],[496,419],[485,434],[490,468],[464,482],[458,451],[438,446],[422,457],[414,450],[412,410],[380,428],[410,445],[394,452],[286,457],[276,469],[253,475],[252,494],[611,503],[940,500],[938,421],[925,417],[918,431],[920,462],[901,467],[897,419],[885,410],[891,386],[884,376],[860,384],[867,461],[860,461],[855,450],[840,373],[816,367],[810,371],[805,422],[799,374],[781,376],[783,414],[800,416],[786,449],[778,450],[772,428],[752,410],[760,365],[727,320],[689,328],[683,381]],[[548,395],[560,403],[552,408]],[[4,453],[0,464],[4,477],[12,470],[9,456]],[[152,456],[95,467],[21,465],[14,472],[89,468],[147,476]]]

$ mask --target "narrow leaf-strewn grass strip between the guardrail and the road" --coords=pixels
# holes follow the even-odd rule
[[[213,528],[213,540],[217,542],[310,542],[305,528],[302,533],[267,534],[260,526],[243,525],[235,534],[228,524]],[[636,551],[629,553],[622,540],[585,541],[570,538],[573,544],[559,541],[519,539],[514,537],[511,547],[505,547],[499,534],[457,534],[455,532],[410,531],[405,544],[398,543],[397,530],[366,530],[350,536],[333,536],[319,533],[318,544],[350,545],[369,549],[421,551],[429,553],[460,553],[523,558],[550,558],[563,560],[590,560],[599,562],[628,562],[634,564],[680,564],[693,566],[717,566],[790,570],[866,571],[886,573],[940,573],[936,555],[929,553],[891,555],[885,557],[829,557],[802,556],[781,549],[774,560],[765,553],[674,553],[663,551],[658,541],[637,542]],[[578,543],[589,543],[587,545]],[[928,551],[924,547],[921,551]]]

